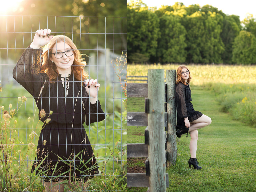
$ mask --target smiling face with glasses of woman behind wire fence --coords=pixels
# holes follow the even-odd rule
[[[72,49],[67,43],[61,41],[56,43],[53,46],[52,49],[52,53],[56,53],[56,52],[65,52],[67,50]],[[56,56],[59,57],[58,55],[61,56],[62,53],[57,53]],[[70,53],[66,52],[67,55],[69,55]],[[57,66],[57,70],[59,71],[63,71],[63,70],[71,70],[71,66],[73,64],[74,61],[74,55],[71,56],[67,56],[65,53],[63,53],[61,58],[56,58],[54,56],[54,54],[51,55],[50,60],[53,61],[56,66]]]

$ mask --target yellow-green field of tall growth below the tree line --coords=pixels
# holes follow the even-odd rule
[[[147,76],[147,69],[177,69],[179,65],[128,65],[127,76]],[[241,65],[187,65],[191,72],[191,86],[212,90],[221,105],[233,119],[256,127],[256,66]],[[166,71],[165,71],[166,76]],[[145,78],[144,78],[145,79]],[[143,83],[145,81],[128,81]]]

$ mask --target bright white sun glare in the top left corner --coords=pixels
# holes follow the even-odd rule
[[[24,10],[23,7],[20,7],[20,2],[22,0],[1,0],[1,6],[0,6],[0,15],[7,15],[10,12],[16,12],[20,11],[22,12]]]

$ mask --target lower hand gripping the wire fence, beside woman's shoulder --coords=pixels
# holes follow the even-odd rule
[[[97,79],[85,79],[84,80],[85,89],[89,94],[89,100],[92,104],[96,103],[97,95],[99,92],[100,84]]]

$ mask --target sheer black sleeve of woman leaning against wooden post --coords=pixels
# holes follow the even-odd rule
[[[176,102],[177,115],[179,118],[188,117],[185,86],[186,85],[182,83],[178,83],[175,86],[175,102]]]

